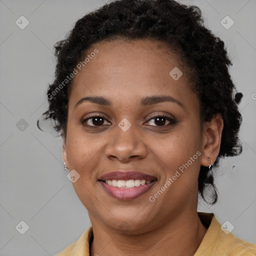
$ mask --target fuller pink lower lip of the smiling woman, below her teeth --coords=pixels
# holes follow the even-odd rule
[[[101,183],[105,191],[115,199],[130,200],[146,193],[156,183],[156,180],[151,181],[149,184],[134,186],[130,188],[110,186],[106,184],[104,181],[99,182]]]

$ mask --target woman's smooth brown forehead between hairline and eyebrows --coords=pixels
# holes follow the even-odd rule
[[[158,92],[181,101],[192,93],[182,61],[165,43],[148,39],[103,41],[93,44],[86,57],[86,64],[73,78],[71,101],[100,95],[123,102]]]

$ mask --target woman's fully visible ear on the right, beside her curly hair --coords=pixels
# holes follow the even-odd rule
[[[222,129],[223,119],[220,114],[215,115],[211,121],[203,123],[201,165],[209,166],[216,160],[220,148]]]

